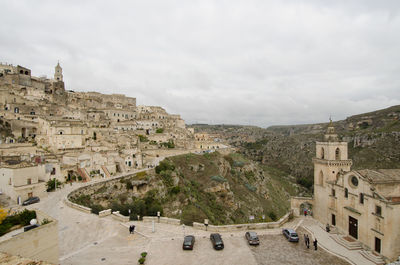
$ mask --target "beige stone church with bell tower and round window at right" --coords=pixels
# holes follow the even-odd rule
[[[351,170],[347,151],[331,122],[324,141],[316,143],[314,196],[292,198],[292,209],[298,215],[310,204],[322,224],[395,260],[400,255],[400,169]]]

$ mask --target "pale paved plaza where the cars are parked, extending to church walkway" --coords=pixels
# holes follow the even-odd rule
[[[155,223],[153,232],[151,223],[124,224],[111,216],[99,218],[66,206],[62,199],[80,185],[66,185],[49,193],[40,203],[28,206],[59,220],[60,264],[138,264],[140,253],[144,251],[148,252],[146,264],[157,265],[372,264],[358,252],[338,245],[311,217],[295,218],[285,227],[298,229],[301,235],[307,232],[318,237],[318,251],[306,250],[302,241],[298,244],[287,242],[281,235],[281,228],[257,230],[261,240],[258,247],[248,245],[244,231],[221,233],[225,248],[215,251],[207,231]],[[136,226],[135,234],[129,234],[130,224]],[[183,251],[183,237],[189,234],[196,237],[194,250]]]

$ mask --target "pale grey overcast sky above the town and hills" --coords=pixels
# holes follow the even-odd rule
[[[186,123],[325,122],[400,104],[400,1],[3,1],[0,61]]]

